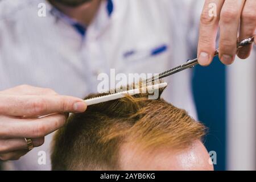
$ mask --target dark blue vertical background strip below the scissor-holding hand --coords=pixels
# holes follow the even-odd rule
[[[216,57],[209,67],[193,68],[192,88],[199,121],[208,127],[205,146],[216,151],[215,170],[226,169],[226,68]]]

